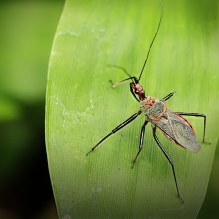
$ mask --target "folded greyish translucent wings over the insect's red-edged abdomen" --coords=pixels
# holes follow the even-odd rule
[[[164,135],[175,144],[187,148],[193,152],[199,152],[200,143],[190,123],[176,113],[167,110],[165,116],[160,120],[153,120]]]

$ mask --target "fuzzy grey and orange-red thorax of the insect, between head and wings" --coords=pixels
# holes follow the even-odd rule
[[[147,120],[160,120],[167,111],[167,107],[164,100],[156,100],[154,97],[147,96],[145,100],[140,101],[140,110]]]

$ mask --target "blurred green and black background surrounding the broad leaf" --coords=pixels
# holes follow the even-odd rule
[[[49,56],[63,6],[64,0],[1,1],[0,218],[3,219],[57,218],[46,160],[44,114]],[[219,215],[218,170],[217,147],[199,219]]]

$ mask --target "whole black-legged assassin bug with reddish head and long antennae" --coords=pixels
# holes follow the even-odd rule
[[[152,134],[154,137],[155,142],[169,161],[171,167],[172,167],[172,173],[174,177],[174,182],[176,186],[176,191],[178,198],[181,199],[182,203],[184,203],[183,199],[181,198],[175,169],[173,165],[173,161],[168,155],[168,153],[165,151],[164,147],[160,143],[157,135],[156,135],[156,129],[160,129],[161,132],[173,143],[177,144],[178,146],[182,148],[186,148],[192,152],[199,152],[201,149],[200,143],[195,135],[194,129],[192,128],[191,124],[182,116],[196,116],[196,117],[202,117],[204,119],[204,131],[203,131],[203,142],[205,142],[205,129],[206,129],[206,116],[201,113],[185,113],[185,112],[172,112],[170,111],[166,106],[166,101],[174,95],[175,92],[171,92],[168,95],[166,95],[164,98],[158,100],[155,97],[152,96],[146,96],[145,91],[143,87],[139,84],[139,81],[141,79],[142,73],[144,71],[145,65],[147,63],[149,53],[151,50],[151,47],[154,43],[154,40],[157,36],[157,33],[160,28],[161,20],[163,15],[163,7],[161,11],[161,16],[159,20],[159,24],[156,30],[156,33],[153,37],[153,40],[150,44],[146,59],[144,61],[142,70],[140,72],[140,76],[137,78],[135,76],[131,76],[126,69],[123,67],[117,66],[117,65],[110,65],[115,68],[119,68],[125,72],[126,75],[128,75],[128,78],[123,79],[115,84],[113,84],[113,87],[127,81],[131,80],[130,83],[130,91],[131,94],[134,96],[134,98],[140,103],[140,110],[133,114],[131,117],[129,117],[127,120],[119,124],[116,128],[114,128],[108,135],[106,135],[104,138],[102,138],[86,155],[88,155],[90,152],[94,151],[97,146],[99,146],[103,141],[105,141],[109,136],[112,134],[115,134],[120,129],[124,128],[126,125],[131,123],[133,120],[135,120],[140,114],[145,115],[145,122],[142,125],[141,128],[141,134],[140,134],[140,142],[139,142],[139,149],[138,152],[133,160],[132,168],[134,167],[134,164],[142,150],[143,141],[144,141],[144,134],[145,134],[145,127],[150,122],[152,127]],[[207,142],[205,142],[207,143]]]

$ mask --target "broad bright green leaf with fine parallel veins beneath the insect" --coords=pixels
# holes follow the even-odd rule
[[[47,84],[46,142],[59,218],[196,218],[203,203],[218,140],[217,1],[164,1],[158,36],[141,85],[172,111],[207,115],[199,153],[157,132],[171,166],[148,125],[134,166],[144,116],[85,154],[139,110],[127,77],[139,76],[161,13],[159,1],[68,0],[55,35]],[[189,117],[200,141],[203,119]]]

